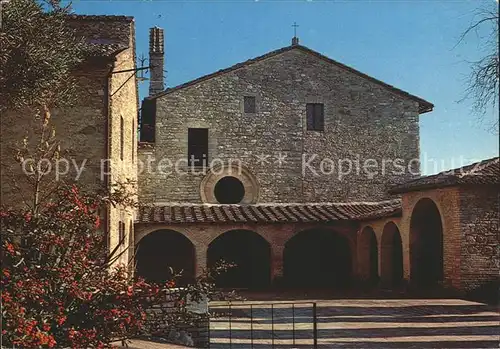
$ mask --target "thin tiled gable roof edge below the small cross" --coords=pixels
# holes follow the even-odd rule
[[[189,86],[195,85],[195,84],[197,84],[199,82],[202,82],[202,81],[205,81],[205,80],[208,80],[208,79],[212,79],[212,78],[217,77],[219,75],[222,75],[222,74],[225,74],[225,73],[229,73],[229,72],[231,72],[233,70],[236,70],[236,69],[248,66],[250,64],[262,61],[262,60],[267,59],[267,58],[274,57],[276,55],[279,55],[281,53],[284,53],[284,52],[287,52],[287,51],[290,51],[290,50],[294,50],[294,49],[301,50],[303,52],[312,54],[313,56],[316,56],[316,57],[318,57],[318,58],[320,58],[320,59],[322,59],[322,60],[324,60],[324,61],[326,61],[328,63],[334,64],[334,65],[336,65],[336,66],[338,66],[340,68],[343,68],[343,69],[345,69],[345,70],[347,70],[347,71],[349,71],[351,73],[354,73],[354,74],[356,74],[358,76],[361,76],[361,77],[363,77],[365,79],[368,79],[368,80],[370,80],[370,81],[372,81],[374,83],[382,85],[383,87],[389,89],[390,91],[392,91],[392,92],[394,92],[396,94],[399,94],[399,95],[401,95],[403,97],[406,97],[406,98],[409,98],[409,99],[412,99],[412,100],[418,102],[420,113],[429,112],[429,111],[431,111],[434,108],[434,105],[432,103],[430,103],[430,102],[428,102],[428,101],[426,101],[426,100],[424,100],[424,99],[422,99],[420,97],[414,96],[414,95],[412,95],[412,94],[410,94],[410,93],[408,93],[406,91],[403,91],[403,90],[401,90],[399,88],[396,88],[396,87],[394,87],[392,85],[389,85],[389,84],[387,84],[387,83],[385,83],[385,82],[383,82],[381,80],[375,79],[375,78],[373,78],[373,77],[371,77],[369,75],[366,75],[366,74],[364,74],[364,73],[362,73],[362,72],[360,72],[360,71],[358,71],[358,70],[356,70],[354,68],[351,68],[351,67],[349,67],[349,66],[347,66],[345,64],[342,64],[340,62],[337,62],[337,61],[335,61],[335,60],[333,60],[333,59],[331,59],[331,58],[329,58],[329,57],[327,57],[325,55],[322,55],[319,52],[311,50],[310,48],[302,46],[302,45],[286,46],[286,47],[280,48],[278,50],[268,52],[268,53],[266,53],[266,54],[264,54],[262,56],[249,59],[249,60],[247,60],[245,62],[235,64],[235,65],[233,65],[231,67],[228,67],[228,68],[225,68],[225,69],[221,69],[219,71],[216,71],[215,73],[208,74],[208,75],[202,76],[202,77],[200,77],[198,79],[188,81],[188,82],[186,82],[184,84],[181,84],[181,85],[178,85],[176,87],[167,88],[163,92],[157,93],[156,95],[149,96],[149,97],[146,97],[146,98],[148,98],[148,99],[158,98],[158,97],[164,96],[166,94],[172,93],[172,92],[174,92],[176,90],[179,90],[179,89],[182,89],[182,88],[185,88],[185,87],[189,87]]]

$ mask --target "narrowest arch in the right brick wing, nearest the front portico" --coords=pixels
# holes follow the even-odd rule
[[[358,273],[363,281],[376,283],[379,278],[379,241],[372,226],[366,225],[357,234]]]

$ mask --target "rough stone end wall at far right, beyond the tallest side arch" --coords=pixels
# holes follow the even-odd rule
[[[461,282],[473,290],[500,278],[498,187],[460,189]]]

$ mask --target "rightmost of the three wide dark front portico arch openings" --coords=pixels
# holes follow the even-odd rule
[[[351,279],[348,239],[330,230],[298,233],[285,244],[283,276],[290,287],[347,287]]]

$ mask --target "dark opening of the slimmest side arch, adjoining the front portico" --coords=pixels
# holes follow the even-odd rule
[[[363,274],[369,284],[378,282],[378,245],[377,237],[371,227],[365,227],[361,232],[359,246],[360,263]]]

